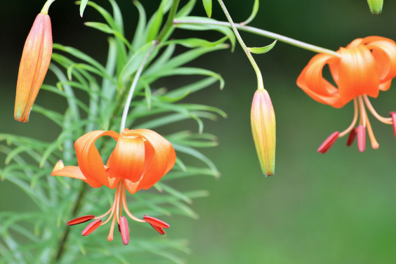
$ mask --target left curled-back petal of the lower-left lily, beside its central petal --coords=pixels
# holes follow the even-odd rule
[[[81,173],[86,177],[86,182],[92,187],[100,187],[106,185],[107,187],[114,187],[113,180],[107,177],[105,166],[98,150],[95,147],[95,140],[101,136],[111,136],[115,140],[118,138],[118,133],[114,131],[91,131],[81,136],[74,143],[76,149],[77,161]],[[119,180],[119,179],[115,179]]]

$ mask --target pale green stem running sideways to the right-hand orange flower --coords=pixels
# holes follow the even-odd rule
[[[173,24],[177,25],[177,24],[204,24],[204,25],[221,25],[221,26],[226,26],[226,27],[230,27],[230,23],[228,22],[222,22],[222,21],[207,21],[207,20],[178,20],[175,19],[173,20]],[[322,48],[319,46],[315,46],[315,45],[311,45],[308,43],[305,43],[303,41],[298,41],[296,39],[291,39],[289,37],[285,37],[283,35],[280,34],[276,34],[273,32],[269,32],[267,30],[264,29],[258,29],[257,27],[250,27],[250,26],[246,26],[246,25],[242,25],[240,23],[235,24],[235,27],[237,29],[243,30],[244,32],[249,32],[249,33],[253,33],[253,34],[257,34],[263,37],[268,37],[270,39],[277,39],[278,41],[282,41],[286,44],[292,45],[292,46],[296,46],[298,48],[303,48],[306,49],[308,51],[313,51],[316,53],[326,53],[326,54],[330,54],[330,55],[335,55],[335,56],[340,56],[338,53],[336,53],[335,51],[331,51],[327,48]]]

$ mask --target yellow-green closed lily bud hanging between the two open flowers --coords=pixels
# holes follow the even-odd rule
[[[265,176],[275,174],[275,112],[265,89],[254,93],[251,104],[251,132],[261,170]]]

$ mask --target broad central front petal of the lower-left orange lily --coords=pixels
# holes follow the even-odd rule
[[[145,143],[143,138],[121,133],[117,145],[107,161],[110,177],[136,182],[143,174],[144,165]]]

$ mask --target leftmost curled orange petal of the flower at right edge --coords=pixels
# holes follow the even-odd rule
[[[298,77],[298,87],[319,103],[333,107],[343,107],[345,104],[339,98],[338,89],[322,76],[324,65],[337,62],[338,58],[333,55],[315,55]]]

